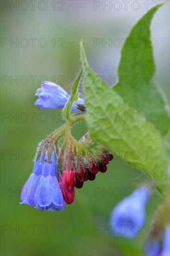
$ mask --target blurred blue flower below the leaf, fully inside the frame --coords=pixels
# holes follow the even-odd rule
[[[138,192],[138,190],[134,190],[133,195],[125,197],[113,208],[111,228],[116,235],[131,239],[139,233],[144,225],[145,204],[148,197],[144,188],[140,188],[140,193]]]

